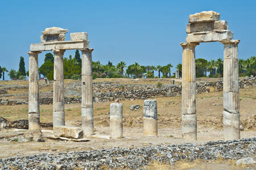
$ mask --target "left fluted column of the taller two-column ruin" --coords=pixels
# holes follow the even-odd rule
[[[197,139],[196,123],[196,42],[180,43],[182,52],[182,108],[181,131],[186,140]]]

